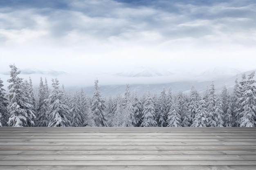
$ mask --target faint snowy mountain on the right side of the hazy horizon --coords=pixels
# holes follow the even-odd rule
[[[240,74],[241,71],[235,68],[223,68],[223,67],[215,67],[209,68],[203,71],[200,75],[214,75],[214,76],[234,76]]]

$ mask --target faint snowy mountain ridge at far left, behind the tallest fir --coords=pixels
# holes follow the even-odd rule
[[[3,72],[1,73],[3,75],[9,75],[10,72]],[[55,70],[38,70],[36,68],[26,68],[26,69],[21,69],[20,74],[23,75],[31,75],[31,74],[41,74],[41,75],[62,75],[62,74],[67,74],[64,71],[55,71]]]

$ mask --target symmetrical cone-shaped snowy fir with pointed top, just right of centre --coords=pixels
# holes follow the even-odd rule
[[[146,100],[143,105],[142,111],[142,127],[155,127],[157,122],[155,121],[155,106],[152,102],[152,97],[149,89],[147,90]]]

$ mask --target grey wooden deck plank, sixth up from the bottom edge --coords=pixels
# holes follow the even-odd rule
[[[73,142],[0,142],[0,146],[256,146],[254,141],[76,142],[76,140],[73,140]]]

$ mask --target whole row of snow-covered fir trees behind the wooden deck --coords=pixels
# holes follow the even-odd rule
[[[0,79],[0,126],[124,126],[124,127],[254,127],[256,125],[256,86],[254,72],[236,79],[232,94],[224,86],[216,93],[214,82],[204,94],[192,86],[190,94],[172,94],[163,88],[161,94],[149,90],[142,97],[130,92],[101,97],[98,80],[92,97],[83,89],[66,93],[58,79],[40,78],[38,89],[32,81],[18,77],[20,71],[10,65],[7,90]]]

